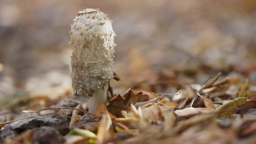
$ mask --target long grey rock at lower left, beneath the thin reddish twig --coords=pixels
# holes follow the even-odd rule
[[[4,141],[7,137],[13,138],[21,132],[29,129],[39,128],[41,126],[59,126],[60,120],[52,117],[36,116],[31,119],[18,120],[4,126],[4,129],[0,132],[0,142]]]

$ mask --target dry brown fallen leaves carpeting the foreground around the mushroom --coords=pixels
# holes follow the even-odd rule
[[[67,115],[70,119],[67,123],[69,131],[62,134],[65,144],[255,143],[256,92],[253,83],[248,80],[243,82],[237,76],[221,77],[218,73],[203,86],[180,85],[177,88],[180,89],[174,94],[165,95],[132,88],[123,94],[109,93],[108,104],[100,104],[94,114],[94,121],[76,125],[82,117],[90,115],[86,115],[88,104],[81,101],[70,107],[73,110]],[[70,96],[69,90],[59,99],[68,97],[74,98]],[[16,106],[13,102],[12,107],[0,112],[1,116],[6,117],[1,121],[2,129],[7,126],[8,120],[14,120],[7,119],[8,114],[15,116],[23,110],[27,114],[34,112],[42,115],[43,111],[49,110],[48,116],[54,117],[61,108],[68,108],[47,105],[45,102],[58,98],[42,98],[42,95],[33,95],[33,99],[45,101],[41,105],[35,106],[35,100],[20,105],[19,100],[24,101],[24,98],[16,99]],[[193,99],[194,103],[190,107]],[[12,113],[13,110],[16,113]],[[33,131],[26,130],[17,137],[1,141],[6,144],[31,143],[32,139]]]

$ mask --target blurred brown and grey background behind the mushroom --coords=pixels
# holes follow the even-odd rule
[[[113,20],[113,68],[122,79],[112,82],[116,94],[129,87],[173,92],[155,85],[165,79],[174,89],[178,82],[202,84],[219,71],[256,83],[255,0],[0,3],[0,101],[53,87],[71,89],[68,31],[86,8],[100,8]]]

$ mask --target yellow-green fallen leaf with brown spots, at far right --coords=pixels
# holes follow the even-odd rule
[[[224,116],[230,116],[234,113],[236,113],[236,111],[229,111],[229,110],[233,110],[235,108],[238,108],[239,106],[243,105],[248,98],[236,98],[233,99],[223,105],[221,105],[220,107],[218,107],[216,109],[216,111],[219,111],[221,113],[219,113],[219,117],[224,117]]]

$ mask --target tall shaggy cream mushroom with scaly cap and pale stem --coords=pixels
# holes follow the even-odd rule
[[[112,21],[100,9],[79,11],[71,24],[70,42],[74,95],[90,98],[89,112],[107,101],[115,52]]]

